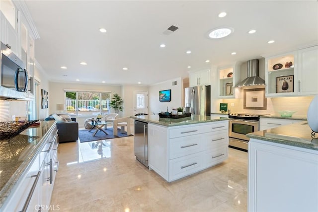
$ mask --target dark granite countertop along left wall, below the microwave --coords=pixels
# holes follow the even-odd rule
[[[47,132],[51,131],[55,122],[41,121],[37,127],[30,127],[11,139],[0,140],[0,208],[44,146]]]

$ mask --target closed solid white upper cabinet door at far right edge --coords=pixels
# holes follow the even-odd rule
[[[298,51],[298,94],[318,94],[318,46]]]

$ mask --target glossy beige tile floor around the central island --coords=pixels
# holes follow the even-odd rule
[[[247,210],[247,153],[236,149],[223,163],[172,183],[135,159],[133,136],[60,143],[58,157],[51,207],[61,212]]]

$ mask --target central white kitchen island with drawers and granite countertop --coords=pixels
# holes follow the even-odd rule
[[[228,158],[228,118],[131,116],[148,123],[149,168],[171,182]]]

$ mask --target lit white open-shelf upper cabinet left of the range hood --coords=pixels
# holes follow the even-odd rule
[[[234,86],[239,82],[240,63],[236,63],[227,67],[218,68],[218,98],[234,98]]]

